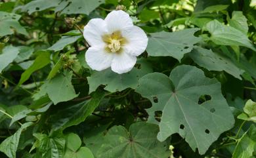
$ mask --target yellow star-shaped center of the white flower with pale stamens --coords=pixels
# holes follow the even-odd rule
[[[106,43],[105,50],[112,53],[122,52],[122,46],[127,43],[127,40],[121,36],[120,31],[114,31],[111,34],[103,35],[102,40]]]

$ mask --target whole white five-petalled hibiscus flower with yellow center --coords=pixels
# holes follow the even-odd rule
[[[129,14],[114,10],[105,20],[94,18],[83,30],[83,36],[91,46],[86,54],[87,64],[97,71],[110,68],[125,73],[135,66],[137,56],[148,45],[146,33],[133,26]]]

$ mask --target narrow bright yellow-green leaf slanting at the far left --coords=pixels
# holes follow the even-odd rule
[[[22,85],[22,83],[27,81],[30,78],[30,75],[32,75],[34,71],[37,71],[38,69],[41,69],[47,66],[47,64],[49,64],[50,62],[51,62],[50,53],[42,51],[39,54],[39,56],[35,58],[35,61],[33,62],[32,66],[30,66],[30,68],[26,69],[26,71],[22,73],[18,86]]]

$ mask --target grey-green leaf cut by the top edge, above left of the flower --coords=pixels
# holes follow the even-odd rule
[[[104,3],[104,0],[68,0],[62,1],[58,7],[56,7],[55,12],[62,10],[61,14],[87,14],[100,4]]]

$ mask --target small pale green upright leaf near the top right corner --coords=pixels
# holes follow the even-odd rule
[[[247,18],[243,15],[242,11],[233,11],[232,18],[228,18],[228,24],[247,35],[249,30],[247,25]]]

